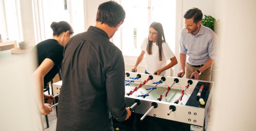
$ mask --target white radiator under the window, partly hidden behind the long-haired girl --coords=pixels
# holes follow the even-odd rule
[[[134,64],[125,64],[125,71],[131,71],[133,66],[134,66]],[[144,65],[137,66],[137,72],[145,73],[145,66]],[[165,76],[173,77],[173,68],[166,70]]]

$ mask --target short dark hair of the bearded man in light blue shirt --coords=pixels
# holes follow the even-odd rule
[[[189,9],[185,14],[184,14],[185,19],[191,19],[193,18],[194,23],[197,23],[202,20],[203,18],[203,13],[201,12],[200,9],[198,8],[192,8]]]

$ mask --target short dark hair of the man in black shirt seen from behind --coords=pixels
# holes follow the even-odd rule
[[[99,5],[96,21],[107,24],[111,27],[116,26],[125,19],[125,10],[115,1],[104,2]]]

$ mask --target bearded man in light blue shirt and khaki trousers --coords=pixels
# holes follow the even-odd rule
[[[192,8],[184,14],[185,27],[180,33],[179,59],[181,71],[177,76],[211,80],[211,69],[217,54],[217,35],[201,25],[203,13]]]

